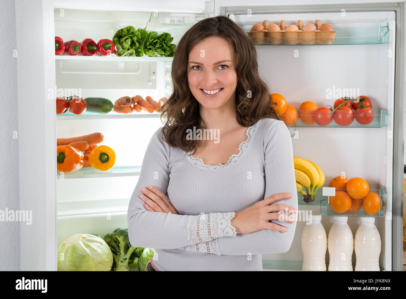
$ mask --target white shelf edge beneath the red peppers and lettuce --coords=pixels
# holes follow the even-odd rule
[[[164,61],[164,62],[172,62],[173,57],[149,57],[149,56],[141,56],[141,57],[129,57],[129,56],[117,56],[115,54],[110,54],[107,56],[70,56],[70,55],[55,55],[55,60],[80,60],[80,61],[115,61],[115,62],[151,62],[151,61]]]

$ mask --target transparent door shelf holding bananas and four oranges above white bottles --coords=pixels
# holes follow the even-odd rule
[[[328,185],[324,186],[324,187],[328,187]],[[336,189],[335,191],[346,192],[346,189]],[[299,205],[320,206],[320,212],[326,216],[382,217],[383,215],[385,215],[385,211],[386,211],[386,195],[387,195],[386,187],[379,185],[379,184],[369,184],[369,192],[374,192],[377,195],[379,195],[380,200],[382,202],[382,206],[380,206],[379,211],[374,215],[367,214],[362,206],[356,212],[337,213],[337,212],[333,211],[333,209],[330,207],[330,204],[328,203],[328,200],[329,200],[328,196],[323,196],[322,187],[316,191],[316,195],[314,197],[313,202],[309,202],[309,203],[304,202],[304,196],[302,194],[298,193],[298,204]],[[352,199],[352,200],[354,200],[354,199]]]

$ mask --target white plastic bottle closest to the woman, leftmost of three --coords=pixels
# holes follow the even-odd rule
[[[322,215],[311,215],[302,233],[302,271],[326,271],[327,236]],[[309,220],[310,220],[309,219]]]

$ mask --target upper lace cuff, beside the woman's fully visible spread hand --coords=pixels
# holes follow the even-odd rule
[[[220,237],[234,237],[236,232],[231,225],[231,219],[233,219],[234,215],[235,212],[189,216],[188,240],[194,245]]]

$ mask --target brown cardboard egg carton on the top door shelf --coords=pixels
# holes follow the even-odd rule
[[[273,44],[277,45],[280,43],[283,44],[296,44],[296,43],[306,43],[306,44],[314,44],[314,43],[332,43],[335,37],[335,33],[337,31],[322,31],[320,30],[320,20],[316,20],[314,25],[316,26],[316,30],[314,31],[303,31],[303,22],[302,20],[298,20],[298,28],[299,30],[296,31],[286,31],[286,23],[285,20],[281,21],[279,27],[281,31],[248,31],[248,37],[253,40],[256,44]],[[268,21],[263,21],[263,27],[267,28]]]

